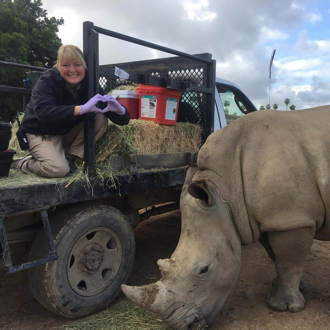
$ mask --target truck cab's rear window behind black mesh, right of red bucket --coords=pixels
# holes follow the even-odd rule
[[[201,96],[199,93],[182,92],[181,101],[178,109],[178,121],[187,121],[197,124],[202,121],[200,110]]]

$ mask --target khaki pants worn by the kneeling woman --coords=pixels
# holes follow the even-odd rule
[[[62,178],[69,171],[65,153],[84,157],[83,121],[65,135],[50,135],[50,141],[43,140],[42,135],[26,134],[29,152],[35,159],[23,163],[21,171],[25,174],[36,174],[45,178]],[[108,127],[108,118],[95,113],[95,141]]]

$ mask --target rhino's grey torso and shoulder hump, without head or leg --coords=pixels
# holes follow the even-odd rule
[[[236,190],[234,182],[242,182],[236,197],[244,198],[254,239],[256,228],[318,228],[330,214],[329,123],[330,106],[248,114],[210,135],[198,169],[213,170]]]

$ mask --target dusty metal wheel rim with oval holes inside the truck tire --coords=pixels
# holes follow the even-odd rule
[[[122,248],[117,234],[105,227],[87,231],[71,250],[67,276],[71,288],[82,296],[104,291],[115,279]]]

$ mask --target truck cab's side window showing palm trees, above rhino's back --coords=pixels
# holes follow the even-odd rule
[[[243,93],[239,90],[221,84],[216,84],[216,89],[221,99],[227,124],[251,111],[255,111],[255,109],[249,109]]]

